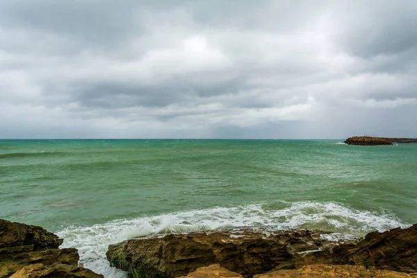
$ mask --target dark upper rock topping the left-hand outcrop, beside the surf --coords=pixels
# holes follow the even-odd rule
[[[32,251],[42,251],[58,248],[62,243],[63,239],[42,227],[0,219],[0,248],[33,245]]]

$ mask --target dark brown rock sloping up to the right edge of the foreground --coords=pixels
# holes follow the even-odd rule
[[[417,224],[407,229],[372,232],[356,245],[338,245],[314,254],[295,256],[293,260],[278,265],[277,269],[313,264],[364,265],[380,270],[417,272]]]

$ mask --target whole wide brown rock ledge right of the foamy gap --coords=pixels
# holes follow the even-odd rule
[[[106,255],[135,278],[417,277],[417,224],[337,244],[320,234],[170,234],[126,240],[109,246]]]

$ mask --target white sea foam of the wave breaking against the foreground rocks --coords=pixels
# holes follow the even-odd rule
[[[358,211],[334,202],[295,202],[280,203],[278,206],[252,204],[217,207],[115,220],[91,227],[67,227],[57,234],[65,239],[62,247],[76,247],[79,250],[81,262],[86,268],[105,277],[121,278],[127,277],[126,273],[110,267],[105,256],[107,247],[139,236],[231,227],[255,227],[270,231],[305,227],[334,231],[338,239],[407,225],[393,215]]]

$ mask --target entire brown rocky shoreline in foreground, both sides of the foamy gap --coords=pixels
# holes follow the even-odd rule
[[[417,277],[417,224],[332,240],[332,233],[248,229],[168,234],[110,245],[112,266],[135,278]],[[0,220],[0,278],[103,277],[42,227]]]

